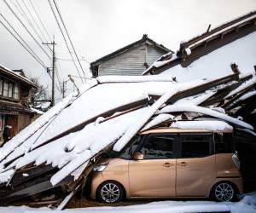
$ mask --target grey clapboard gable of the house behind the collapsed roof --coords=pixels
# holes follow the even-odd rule
[[[135,43],[103,56],[90,64],[93,77],[103,75],[141,75],[154,60],[172,52],[161,44],[155,43],[148,35]]]

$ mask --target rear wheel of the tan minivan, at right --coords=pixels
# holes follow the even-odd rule
[[[213,187],[212,197],[213,199],[224,202],[235,199],[235,187],[229,182],[219,182]]]

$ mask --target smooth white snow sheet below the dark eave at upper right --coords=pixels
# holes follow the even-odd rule
[[[208,55],[195,60],[188,67],[180,65],[162,72],[162,75],[177,77],[177,82],[198,78],[219,78],[231,74],[230,64],[235,62],[241,72],[253,72],[256,62],[256,32],[216,49]]]

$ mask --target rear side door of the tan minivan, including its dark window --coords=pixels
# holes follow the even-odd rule
[[[178,145],[176,196],[207,196],[216,177],[212,134],[183,134]]]

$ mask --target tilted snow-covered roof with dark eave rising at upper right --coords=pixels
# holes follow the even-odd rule
[[[163,73],[176,77],[178,82],[218,78],[231,72],[232,63],[242,72],[253,72],[255,21],[256,11],[253,11],[180,43],[176,55],[163,55],[143,75]]]

